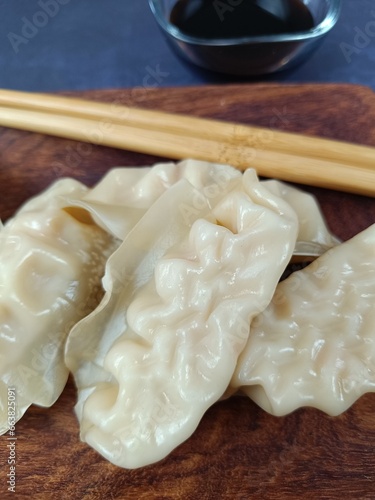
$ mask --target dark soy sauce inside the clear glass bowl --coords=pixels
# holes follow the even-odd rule
[[[306,31],[314,26],[301,0],[178,0],[170,21],[199,38],[238,38]]]

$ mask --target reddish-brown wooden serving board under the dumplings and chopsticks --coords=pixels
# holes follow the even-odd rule
[[[243,84],[74,95],[375,146],[375,96],[364,87]],[[92,185],[113,166],[158,160],[0,128],[0,218],[59,177]],[[374,198],[304,189],[344,240],[375,222]],[[0,437],[1,499],[375,498],[375,394],[335,418],[310,408],[276,418],[233,397],[214,405],[169,457],[131,471],[79,441],[74,403],[69,380],[52,408],[32,407],[17,423],[15,495],[6,491],[7,436]]]

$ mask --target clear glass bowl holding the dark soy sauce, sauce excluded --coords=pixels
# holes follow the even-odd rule
[[[341,8],[341,0],[303,0],[314,20],[313,28],[308,31],[203,38],[183,33],[170,22],[176,3],[176,0],[149,0],[159,27],[177,53],[203,68],[242,76],[273,73],[305,61],[334,27]]]

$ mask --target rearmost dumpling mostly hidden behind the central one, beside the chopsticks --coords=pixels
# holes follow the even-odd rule
[[[209,198],[224,192],[241,172],[227,165],[198,160],[157,163],[153,167],[114,168],[79,200],[69,200],[86,209],[95,221],[115,237],[124,239],[146,210],[180,179],[203,190]],[[339,243],[331,234],[316,199],[309,193],[277,181],[261,181],[296,212],[299,234],[294,253],[321,254]]]

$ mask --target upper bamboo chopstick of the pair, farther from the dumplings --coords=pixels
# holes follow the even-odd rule
[[[50,94],[0,89],[0,105],[36,111],[44,110],[53,114],[91,117],[108,121],[108,123],[128,123],[139,128],[167,130],[194,137],[221,139],[237,146],[246,145],[261,149],[266,144],[268,150],[346,164],[352,164],[355,155],[356,165],[371,168],[375,160],[374,149],[366,146],[238,123],[131,108],[116,103],[99,103]]]

